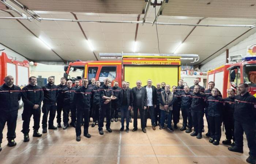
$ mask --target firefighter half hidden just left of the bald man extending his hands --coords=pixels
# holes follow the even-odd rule
[[[93,87],[93,124],[91,127],[93,128],[97,122],[99,122],[99,87],[101,85],[100,81],[95,82],[95,86]]]

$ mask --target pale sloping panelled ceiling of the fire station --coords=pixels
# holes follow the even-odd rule
[[[9,0],[7,2],[12,4]],[[29,9],[35,10],[34,12],[42,18],[58,19],[137,21],[139,17],[139,21],[142,21],[144,17],[142,11],[145,8],[144,0],[88,0],[86,3],[82,0],[73,0],[72,4],[71,1],[63,0],[61,5],[58,5],[59,0],[20,0],[20,2]],[[157,22],[196,24],[203,17],[207,17],[199,24],[256,23],[256,6],[249,6],[255,1],[226,0],[223,3],[220,0],[212,0],[211,4],[207,5],[208,2],[193,0],[191,4],[189,0],[169,0]],[[1,5],[0,3],[2,9],[0,17],[20,17],[3,5],[1,8]],[[205,9],[207,7],[209,9]],[[240,7],[239,11],[230,11],[238,7]],[[156,12],[159,8],[156,7]],[[155,8],[150,6],[146,21],[152,22],[154,18]],[[35,61],[103,60],[99,58],[99,52],[133,53],[137,25],[80,22],[82,31],[77,22],[0,20],[0,43]],[[173,53],[179,47],[176,54],[198,54],[200,60],[193,65],[203,64],[256,32],[256,28],[248,31],[249,27],[196,27],[191,32],[193,28],[158,25],[161,54]],[[90,40],[94,51],[91,51],[83,32]],[[244,35],[236,39],[244,32],[246,32]],[[37,37],[44,40],[51,49],[44,46]],[[184,43],[179,46],[184,39]],[[236,40],[233,41],[234,39]],[[157,40],[156,26],[138,24],[135,53],[159,53]],[[230,43],[231,41],[233,42]],[[229,45],[226,46],[227,44]],[[209,56],[211,58],[208,58]],[[190,62],[191,60],[182,61],[191,64]]]

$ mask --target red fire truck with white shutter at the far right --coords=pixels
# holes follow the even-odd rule
[[[241,62],[208,71],[207,84],[210,81],[215,82],[215,87],[221,91],[223,98],[227,97],[227,89],[236,89],[239,83],[247,83],[249,93],[256,97],[256,57],[245,57]]]

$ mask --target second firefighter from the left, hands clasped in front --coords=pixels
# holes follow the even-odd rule
[[[23,87],[21,97],[24,102],[23,113],[22,113],[22,130],[24,134],[23,142],[29,141],[29,124],[30,118],[33,115],[34,120],[34,133],[33,137],[41,137],[42,134],[38,132],[40,128],[40,117],[41,117],[41,103],[44,100],[44,92],[41,87],[36,85],[37,78],[32,76],[29,78],[29,85]]]

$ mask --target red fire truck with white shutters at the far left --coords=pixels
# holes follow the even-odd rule
[[[18,61],[15,58],[8,58],[5,52],[0,56],[0,85],[4,84],[4,77],[12,75],[14,77],[14,84],[19,87],[24,87],[28,84],[29,79],[29,61]],[[23,107],[23,102],[20,100],[19,108]]]

